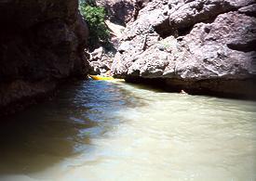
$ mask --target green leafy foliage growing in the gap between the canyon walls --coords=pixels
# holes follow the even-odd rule
[[[86,3],[81,3],[79,9],[84,19],[88,22],[89,44],[108,43],[110,32],[104,22],[106,15],[104,8],[95,6],[92,0],[88,0]]]

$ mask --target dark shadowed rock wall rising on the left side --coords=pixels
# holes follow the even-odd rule
[[[88,71],[88,27],[77,7],[77,0],[0,2],[1,112]]]

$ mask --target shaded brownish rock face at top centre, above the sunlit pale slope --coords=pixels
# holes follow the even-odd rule
[[[107,10],[108,18],[121,25],[135,19],[137,13],[149,0],[96,0],[97,6],[103,6]]]

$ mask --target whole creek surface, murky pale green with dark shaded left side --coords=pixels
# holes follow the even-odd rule
[[[85,81],[1,119],[1,181],[256,180],[253,101]]]

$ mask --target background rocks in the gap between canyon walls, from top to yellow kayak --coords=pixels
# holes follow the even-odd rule
[[[150,0],[96,0],[97,6],[103,6],[107,11],[105,20],[111,32],[110,44],[88,52],[89,74],[109,75],[115,57],[116,49],[125,26],[137,19],[143,6]]]

